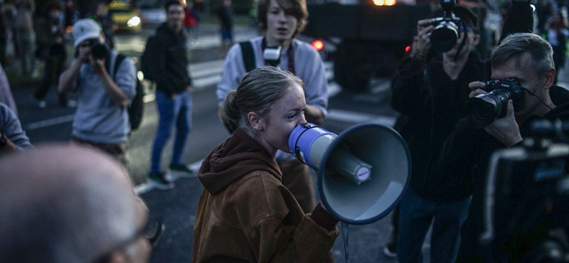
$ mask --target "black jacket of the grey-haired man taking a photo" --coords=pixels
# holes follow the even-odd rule
[[[555,87],[563,89],[562,87]],[[553,88],[552,88],[553,89]],[[558,97],[560,99],[560,97]],[[536,116],[526,119],[520,124],[522,138],[531,136],[531,123],[536,119],[561,119],[569,120],[569,102],[565,97],[565,103],[555,107],[544,116]],[[522,145],[520,142],[517,145]],[[457,173],[458,171],[473,171],[473,193],[470,204],[469,215],[461,228],[461,244],[459,258],[457,262],[484,262],[479,245],[479,237],[483,227],[483,208],[484,208],[484,189],[486,173],[488,171],[489,159],[491,154],[498,149],[506,147],[498,139],[486,133],[484,129],[476,129],[466,124],[466,119],[462,119],[455,131],[449,136],[442,152],[442,161],[439,165],[443,173]],[[499,175],[498,175],[499,176]]]

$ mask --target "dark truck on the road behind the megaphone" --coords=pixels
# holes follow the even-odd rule
[[[417,21],[440,7],[438,0],[393,6],[375,1],[307,5],[303,34],[336,45],[329,55],[334,78],[349,92],[366,91],[371,77],[390,77],[417,34]]]

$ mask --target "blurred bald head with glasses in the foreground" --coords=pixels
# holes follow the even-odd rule
[[[0,159],[0,262],[147,262],[147,208],[127,171],[92,149]]]

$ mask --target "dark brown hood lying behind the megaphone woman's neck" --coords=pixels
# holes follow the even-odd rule
[[[217,195],[252,171],[266,171],[282,181],[269,151],[239,128],[203,160],[198,178],[211,195]]]

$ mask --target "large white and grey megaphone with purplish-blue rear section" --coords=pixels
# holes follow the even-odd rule
[[[409,183],[407,144],[381,124],[359,124],[338,136],[305,123],[292,130],[289,149],[318,172],[324,208],[349,224],[368,224],[388,215]]]

